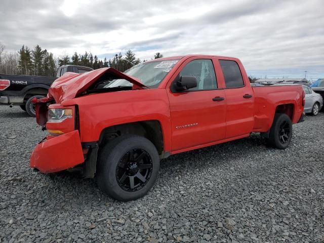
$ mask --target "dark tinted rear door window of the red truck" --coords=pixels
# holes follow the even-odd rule
[[[239,88],[244,86],[241,71],[235,61],[219,60],[225,78],[226,88]]]

